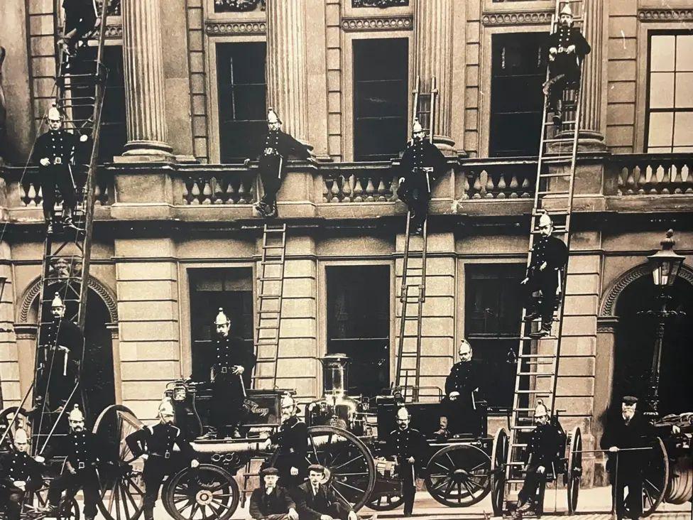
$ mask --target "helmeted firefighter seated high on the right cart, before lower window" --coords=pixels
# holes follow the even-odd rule
[[[436,432],[440,438],[449,434],[470,433],[478,437],[481,433],[479,418],[479,377],[472,362],[473,351],[467,340],[459,345],[459,362],[452,365],[445,379],[445,397],[442,400],[440,418],[441,429]]]

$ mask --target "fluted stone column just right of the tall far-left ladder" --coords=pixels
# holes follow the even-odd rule
[[[122,0],[126,156],[169,156],[159,0]]]

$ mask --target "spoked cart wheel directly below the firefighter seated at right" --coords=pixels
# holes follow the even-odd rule
[[[471,506],[491,491],[491,458],[469,444],[446,446],[428,461],[425,482],[437,502]]]

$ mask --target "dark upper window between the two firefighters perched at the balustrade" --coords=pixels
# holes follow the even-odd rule
[[[409,43],[354,40],[354,160],[389,161],[407,140]]]

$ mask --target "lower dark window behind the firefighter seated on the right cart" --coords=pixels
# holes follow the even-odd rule
[[[481,389],[482,396],[491,409],[509,408],[513,404],[515,364],[508,362],[508,352],[517,352],[519,345],[524,266],[471,265],[465,269],[464,335],[484,372],[481,381],[493,381]]]

